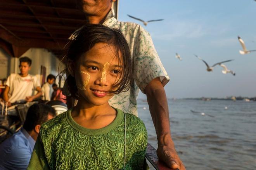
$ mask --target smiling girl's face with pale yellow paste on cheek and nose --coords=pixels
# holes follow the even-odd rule
[[[104,105],[114,95],[112,85],[119,81],[123,66],[116,57],[115,47],[95,44],[75,64],[74,76],[80,98],[93,105]]]

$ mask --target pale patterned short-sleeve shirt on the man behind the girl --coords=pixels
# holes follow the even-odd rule
[[[126,113],[137,113],[137,96],[139,89],[144,89],[150,81],[159,77],[163,86],[170,80],[161,60],[156,52],[150,34],[139,24],[133,22],[121,22],[114,17],[111,10],[103,23],[110,28],[119,29],[125,36],[130,46],[131,57],[134,62],[134,82],[131,82],[129,91],[114,95],[109,104]],[[73,35],[71,35],[71,39]]]

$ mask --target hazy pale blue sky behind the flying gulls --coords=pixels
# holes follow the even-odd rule
[[[142,23],[127,14],[150,20],[143,26],[170,76],[168,98],[256,96],[256,53],[240,55],[237,36],[248,50],[256,49],[256,2],[254,0],[119,0],[119,20]],[[183,61],[175,58],[179,53]],[[236,76],[222,74],[212,65],[228,59]],[[142,95],[140,95],[142,97]]]

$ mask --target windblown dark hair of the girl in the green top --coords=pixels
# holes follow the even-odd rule
[[[66,53],[64,55],[66,57],[66,64],[68,59],[76,62],[79,57],[88,52],[96,43],[107,43],[114,46],[116,57],[119,63],[123,65],[123,69],[120,80],[116,81],[116,84],[112,86],[114,90],[110,91],[110,93],[119,94],[122,91],[128,91],[132,80],[133,64],[129,45],[121,31],[103,25],[88,24],[76,31],[72,38],[66,45]],[[66,81],[69,92],[73,98],[78,99],[75,77],[68,74],[67,69],[62,72],[65,71],[68,75]]]

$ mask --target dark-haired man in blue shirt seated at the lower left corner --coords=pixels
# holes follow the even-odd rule
[[[0,169],[26,169],[41,124],[56,116],[54,108],[45,104],[29,107],[23,127],[0,145]]]

